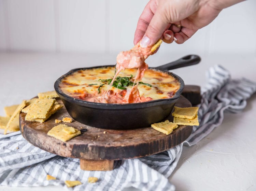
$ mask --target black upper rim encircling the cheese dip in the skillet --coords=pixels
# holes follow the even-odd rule
[[[72,74],[73,72],[76,72],[78,70],[88,70],[88,69],[93,69],[93,68],[114,67],[114,66],[115,65],[103,65],[103,66],[93,66],[93,67],[71,69],[66,74],[63,74],[62,76],[60,76],[55,81],[54,89],[57,92],[57,94],[60,96],[61,99],[65,98],[66,101],[71,102],[71,103],[79,104],[79,105],[85,106],[85,107],[96,108],[96,109],[109,109],[109,110],[122,109],[123,110],[123,109],[137,109],[137,108],[143,108],[143,107],[153,107],[153,106],[156,106],[156,105],[165,104],[165,102],[167,102],[167,103],[176,102],[176,100],[178,98],[180,98],[180,95],[181,95],[182,90],[184,88],[184,81],[180,76],[178,76],[177,74],[174,74],[173,72],[170,72],[168,70],[160,70],[160,69],[157,69],[157,68],[154,68],[154,67],[149,67],[149,69],[153,69],[155,71],[161,71],[161,72],[168,73],[168,75],[173,76],[175,79],[177,79],[180,82],[180,88],[179,88],[178,91],[176,91],[176,93],[174,94],[174,96],[172,98],[151,100],[151,101],[140,102],[140,103],[126,103],[126,104],[97,103],[97,102],[88,102],[88,101],[85,101],[85,100],[79,100],[79,99],[72,98],[69,95],[63,93],[61,91],[61,89],[59,88],[59,83],[61,82],[61,80],[64,77]]]

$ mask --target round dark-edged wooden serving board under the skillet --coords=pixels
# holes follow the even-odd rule
[[[60,99],[56,100],[63,104]],[[191,107],[191,103],[181,96],[175,106]],[[171,134],[165,135],[152,127],[112,130],[90,127],[73,121],[61,124],[67,124],[79,130],[84,129],[84,132],[80,136],[62,142],[48,136],[47,132],[58,125],[55,123],[55,119],[61,120],[63,117],[70,117],[65,107],[44,123],[25,121],[25,116],[25,113],[20,113],[20,131],[28,142],[63,157],[87,160],[119,160],[156,154],[182,143],[192,131],[192,126],[179,125]],[[173,121],[171,115],[165,120],[167,119]]]

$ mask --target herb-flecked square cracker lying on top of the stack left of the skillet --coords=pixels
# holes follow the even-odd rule
[[[36,100],[27,112],[25,120],[46,118],[54,103],[55,99]]]

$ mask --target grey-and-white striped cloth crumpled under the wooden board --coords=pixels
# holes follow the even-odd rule
[[[256,83],[247,79],[231,80],[229,72],[214,66],[208,72],[208,83],[202,92],[199,105],[199,126],[184,145],[194,145],[223,121],[224,110],[242,111],[246,99],[256,91]],[[28,143],[19,132],[0,135],[0,185],[66,187],[65,180],[80,180],[82,185],[73,190],[122,190],[135,187],[141,190],[175,190],[168,177],[181,156],[183,143],[155,155],[115,161],[112,171],[83,171],[79,159],[65,158],[43,151]],[[46,180],[46,175],[56,180]],[[87,183],[90,176],[98,182]]]

